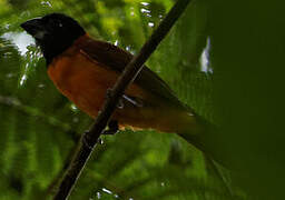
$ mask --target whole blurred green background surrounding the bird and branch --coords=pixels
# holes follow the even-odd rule
[[[50,12],[138,52],[173,0],[0,0],[0,200],[48,199],[92,120],[48,79],[20,29]],[[284,4],[195,0],[147,66],[220,127],[209,162],[176,134],[104,136],[70,199],[283,199]]]

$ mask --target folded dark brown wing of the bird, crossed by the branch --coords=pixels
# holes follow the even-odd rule
[[[86,37],[83,41],[78,43],[78,46],[88,57],[95,59],[97,62],[104,63],[102,66],[109,67],[111,70],[118,71],[119,73],[122,72],[134,57],[131,53],[111,43],[94,40],[89,37]],[[135,79],[135,83],[147,91],[168,100],[170,103],[174,103],[174,106],[184,107],[166,82],[147,67],[142,68]]]

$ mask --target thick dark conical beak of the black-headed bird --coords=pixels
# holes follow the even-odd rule
[[[36,40],[42,40],[47,33],[41,18],[35,18],[20,24]]]

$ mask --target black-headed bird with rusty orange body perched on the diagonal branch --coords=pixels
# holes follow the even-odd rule
[[[35,38],[56,88],[95,119],[134,54],[91,38],[78,21],[63,13],[48,13],[20,27]],[[216,129],[146,66],[126,89],[108,127],[111,132],[126,128],[175,132],[204,152]]]

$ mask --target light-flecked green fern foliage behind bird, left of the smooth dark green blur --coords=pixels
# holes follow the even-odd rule
[[[173,4],[170,0],[0,1],[0,199],[51,194],[91,123],[56,90],[38,49],[33,44],[26,52],[19,49],[17,37],[24,34],[19,24],[63,11],[92,37],[136,53]],[[181,101],[213,121],[213,68],[200,61],[208,36],[208,2],[195,1],[147,64]],[[102,141],[70,199],[244,199],[239,190],[232,188],[230,193],[228,180],[175,134],[126,130]],[[226,171],[218,169],[226,179]]]

